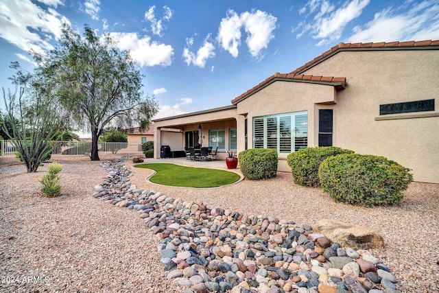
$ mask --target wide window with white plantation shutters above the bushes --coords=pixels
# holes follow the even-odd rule
[[[272,148],[279,154],[289,154],[307,145],[307,111],[253,118],[253,148]]]

